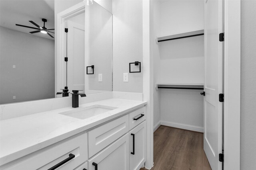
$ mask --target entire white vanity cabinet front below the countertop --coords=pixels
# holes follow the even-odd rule
[[[1,170],[139,170],[146,161],[145,107],[4,164]]]

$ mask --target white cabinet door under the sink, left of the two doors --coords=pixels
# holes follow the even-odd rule
[[[89,170],[129,170],[129,134],[88,160]]]

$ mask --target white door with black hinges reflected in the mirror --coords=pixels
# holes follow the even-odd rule
[[[68,89],[84,90],[84,25],[68,20]]]

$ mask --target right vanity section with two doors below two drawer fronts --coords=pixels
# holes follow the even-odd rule
[[[139,170],[146,161],[145,119],[141,107],[88,131],[88,170]]]

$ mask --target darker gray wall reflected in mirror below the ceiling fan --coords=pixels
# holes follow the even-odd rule
[[[54,41],[5,27],[0,37],[0,103],[54,98]]]

